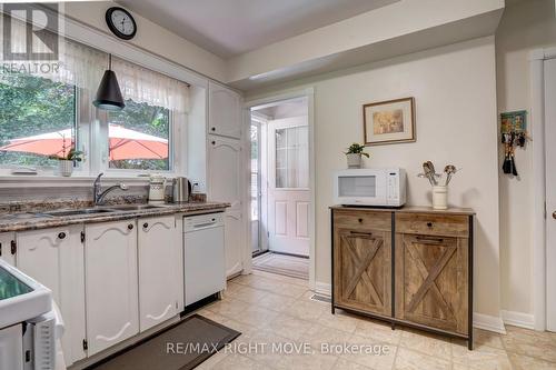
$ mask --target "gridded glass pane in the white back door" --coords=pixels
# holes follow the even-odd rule
[[[276,130],[276,188],[309,188],[308,127]]]

